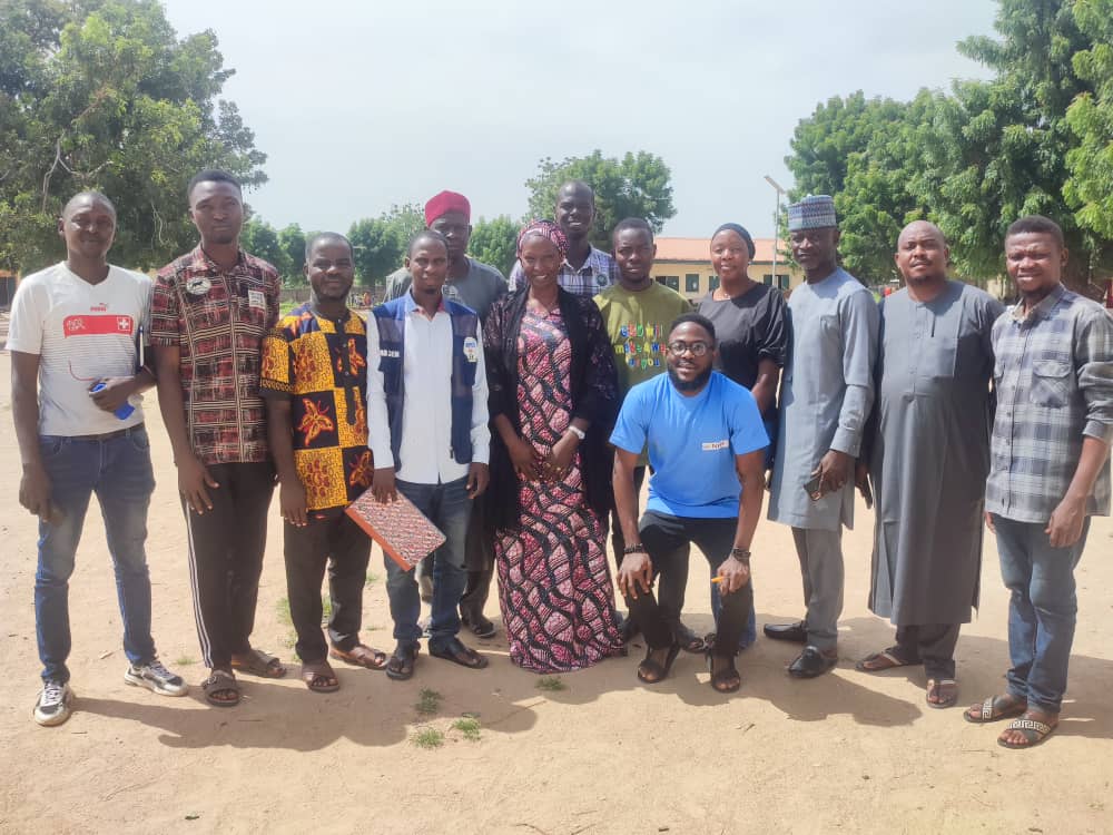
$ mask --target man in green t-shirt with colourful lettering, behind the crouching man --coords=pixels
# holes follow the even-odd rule
[[[603,314],[607,333],[614,346],[614,365],[619,372],[619,396],[624,399],[627,392],[638,383],[642,383],[664,372],[666,341],[669,325],[684,313],[691,313],[688,299],[671,287],[653,281],[653,258],[657,245],[653,243],[652,227],[640,217],[628,217],[620,220],[611,236],[614,247],[613,255],[618,265],[619,281],[607,287],[598,296],[595,304]],[[644,452],[638,459],[634,469],[634,485],[640,493],[646,478]],[[622,527],[618,519],[612,519],[611,544],[614,548],[615,562],[622,562],[626,541],[622,538]],[[687,581],[687,572],[684,572]],[[683,602],[683,588],[669,589],[663,582],[660,590],[662,597],[672,596],[678,605],[673,611],[680,611]],[[699,652],[703,641],[682,623],[673,625],[677,640],[684,649]],[[634,632],[632,621],[627,618],[622,627],[623,638],[629,640]]]

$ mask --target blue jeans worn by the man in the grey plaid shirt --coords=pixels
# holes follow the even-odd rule
[[[1030,707],[1057,714],[1066,692],[1078,601],[1074,567],[1082,558],[1090,518],[1078,541],[1052,548],[1043,522],[1017,522],[993,514],[1001,577],[1009,590],[1008,692]]]

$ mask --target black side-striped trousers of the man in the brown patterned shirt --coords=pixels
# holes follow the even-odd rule
[[[196,513],[185,501],[183,509],[197,637],[213,669],[252,648],[275,471],[270,462],[209,464],[208,471],[219,484],[208,489],[213,510]]]

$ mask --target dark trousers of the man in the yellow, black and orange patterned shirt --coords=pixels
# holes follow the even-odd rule
[[[359,644],[363,587],[367,581],[371,538],[346,513],[313,519],[305,528],[286,522],[286,593],[297,632],[295,650],[303,661],[319,661],[328,652],[321,632],[321,581],[328,566],[328,638],[344,651]]]

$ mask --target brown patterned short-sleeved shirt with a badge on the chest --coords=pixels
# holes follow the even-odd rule
[[[227,273],[199,246],[159,271],[150,343],[180,352],[189,444],[201,463],[269,460],[260,346],[277,323],[278,273],[243,250]]]

